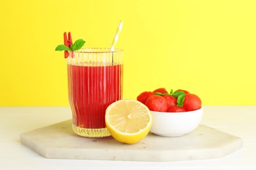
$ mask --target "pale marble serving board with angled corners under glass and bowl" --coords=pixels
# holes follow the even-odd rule
[[[120,161],[221,158],[243,145],[239,137],[203,125],[181,137],[160,137],[148,133],[139,143],[124,144],[112,137],[75,135],[71,120],[22,133],[20,141],[45,158]]]

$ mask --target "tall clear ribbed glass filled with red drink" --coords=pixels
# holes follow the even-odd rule
[[[68,57],[68,96],[73,129],[83,137],[106,137],[105,110],[122,98],[123,50],[83,48]]]

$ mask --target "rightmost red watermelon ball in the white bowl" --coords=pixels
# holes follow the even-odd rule
[[[183,107],[186,111],[198,110],[202,107],[202,101],[198,95],[189,93],[185,95]]]

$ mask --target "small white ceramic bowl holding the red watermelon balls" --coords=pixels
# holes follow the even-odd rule
[[[151,112],[153,123],[150,132],[164,137],[182,136],[193,131],[203,117],[203,108],[190,112]]]

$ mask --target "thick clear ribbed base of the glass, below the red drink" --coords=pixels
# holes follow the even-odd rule
[[[83,128],[73,125],[73,130],[77,135],[80,135],[82,137],[108,137],[110,136],[110,132],[108,129],[100,128],[100,129],[89,129],[89,128]]]

